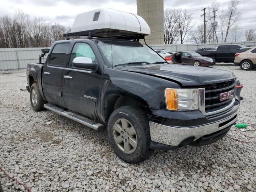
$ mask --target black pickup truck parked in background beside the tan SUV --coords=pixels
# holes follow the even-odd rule
[[[217,50],[196,51],[198,54],[206,57],[211,57],[216,62],[234,62],[235,54],[240,48],[246,48],[244,45],[219,45]]]

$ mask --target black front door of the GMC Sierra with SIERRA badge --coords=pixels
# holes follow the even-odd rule
[[[100,100],[102,72],[76,68],[72,63],[76,57],[88,57],[93,63],[98,62],[88,43],[74,44],[68,66],[63,73],[64,103],[66,108],[96,119],[96,102]]]

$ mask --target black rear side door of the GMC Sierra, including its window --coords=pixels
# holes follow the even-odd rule
[[[65,107],[62,95],[62,74],[68,59],[70,44],[53,45],[52,52],[44,64],[42,81],[44,96],[48,102]]]

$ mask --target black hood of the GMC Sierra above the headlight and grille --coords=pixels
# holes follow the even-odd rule
[[[122,66],[116,69],[169,79],[182,84],[182,86],[201,86],[234,80],[236,78],[230,71],[176,64]]]

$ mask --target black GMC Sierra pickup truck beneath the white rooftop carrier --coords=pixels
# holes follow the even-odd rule
[[[236,122],[240,100],[232,72],[168,64],[138,41],[141,34],[134,40],[118,38],[120,31],[116,38],[91,32],[54,42],[43,50],[44,63],[28,64],[35,111],[46,108],[95,130],[106,128],[110,146],[128,163],[145,160],[154,149],[211,144]],[[65,36],[72,35],[81,33]]]

